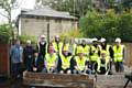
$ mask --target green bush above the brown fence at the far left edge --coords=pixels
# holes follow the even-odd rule
[[[9,24],[0,25],[0,43],[8,43],[12,35],[12,29]]]

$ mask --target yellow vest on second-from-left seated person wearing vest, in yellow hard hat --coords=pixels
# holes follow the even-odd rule
[[[61,59],[62,59],[62,68],[63,69],[66,69],[66,68],[70,67],[72,56],[65,57],[64,55],[61,55]]]

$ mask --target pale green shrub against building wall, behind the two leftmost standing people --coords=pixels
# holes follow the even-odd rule
[[[20,35],[19,38],[22,42],[22,44],[25,44],[28,40],[31,40],[32,44],[36,44],[37,43],[36,37],[35,36],[31,36],[31,35]]]

